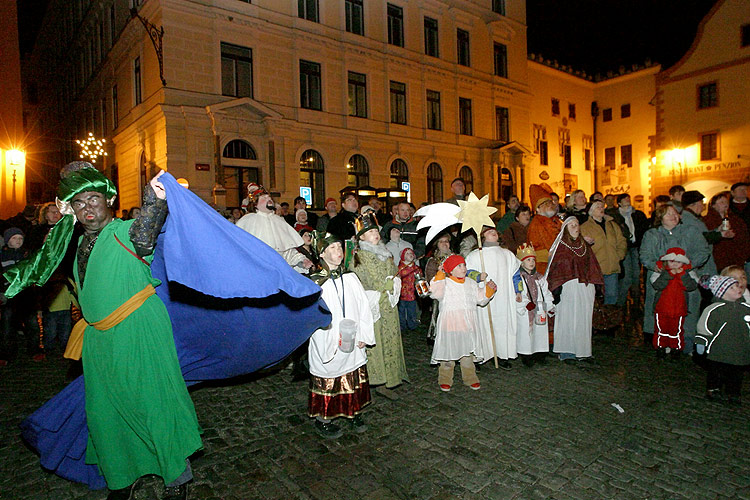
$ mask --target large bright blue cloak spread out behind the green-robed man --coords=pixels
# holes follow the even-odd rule
[[[224,219],[165,173],[169,215],[152,275],[172,321],[185,382],[192,385],[278,363],[331,322],[320,288],[271,247]],[[21,423],[42,467],[91,489],[106,487],[87,465],[84,377]]]

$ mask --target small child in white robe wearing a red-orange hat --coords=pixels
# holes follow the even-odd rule
[[[464,385],[473,390],[481,388],[474,359],[477,351],[477,306],[492,298],[497,285],[492,280],[476,283],[466,279],[466,261],[451,255],[430,283],[432,298],[440,303],[432,363],[440,362],[438,385],[448,392],[453,386],[456,361],[461,365]],[[481,360],[479,360],[481,361]]]

